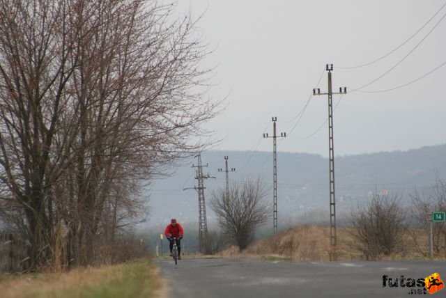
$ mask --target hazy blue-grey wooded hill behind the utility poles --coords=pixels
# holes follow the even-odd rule
[[[205,181],[206,200],[217,187],[224,187],[224,156],[229,156],[230,182],[262,177],[272,202],[272,152],[207,151],[202,153],[204,173],[215,176]],[[171,217],[182,222],[198,222],[197,192],[183,188],[197,185],[191,158],[176,167],[174,175],[156,180],[147,191],[150,195],[151,218],[148,225],[167,224]],[[378,152],[365,155],[337,156],[334,159],[337,211],[348,210],[367,200],[377,191],[387,189],[410,203],[408,194],[415,187],[429,190],[438,178],[446,180],[446,145],[408,151]],[[277,153],[277,196],[279,226],[284,221],[305,217],[314,212],[328,212],[328,159],[306,153]],[[209,207],[208,221],[215,221]],[[313,213],[312,213],[313,212]],[[325,218],[325,217],[324,217]]]

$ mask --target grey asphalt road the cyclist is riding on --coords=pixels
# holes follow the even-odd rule
[[[424,287],[408,287],[438,272],[446,281],[446,261],[285,262],[256,259],[158,260],[171,298],[197,297],[446,297]],[[383,276],[398,286],[390,287]],[[401,287],[401,276],[403,285]],[[411,279],[414,279],[412,281]],[[387,279],[386,279],[387,280]]]

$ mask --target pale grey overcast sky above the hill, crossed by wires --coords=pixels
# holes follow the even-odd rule
[[[334,91],[340,86],[349,91],[334,110],[336,155],[446,143],[446,65],[394,91],[353,92],[397,64],[361,91],[401,86],[445,63],[446,17],[440,19],[446,6],[389,56],[361,68],[343,68],[392,52],[443,4],[445,0],[179,0],[179,14],[203,13],[199,29],[210,49],[215,48],[203,64],[217,65],[217,86],[209,95],[228,95],[226,111],[206,126],[223,139],[215,149],[272,150],[272,140],[262,134],[272,134],[271,116],[277,116],[278,132],[288,135],[279,151],[328,156],[327,97],[309,100],[313,88],[327,91],[326,63],[334,65]],[[333,99],[337,104],[339,95]]]

